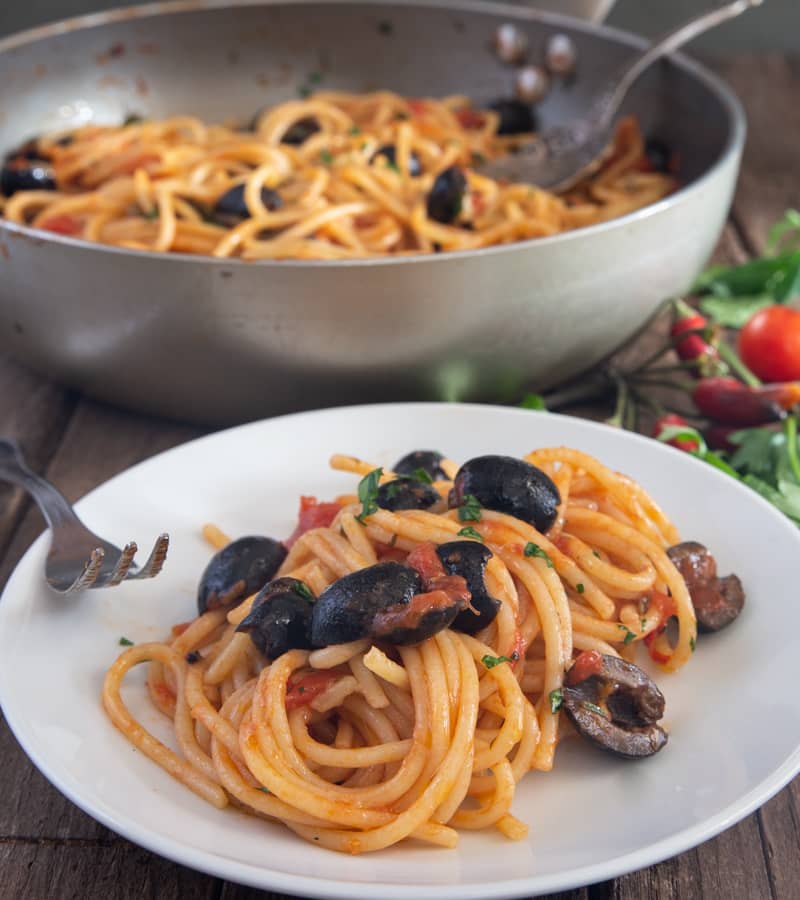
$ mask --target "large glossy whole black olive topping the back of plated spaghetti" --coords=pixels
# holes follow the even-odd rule
[[[508,513],[546,532],[555,522],[561,497],[541,469],[512,456],[477,456],[456,473],[450,506],[472,494],[481,506]]]

